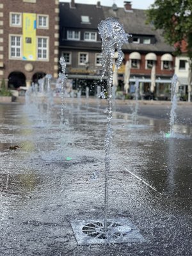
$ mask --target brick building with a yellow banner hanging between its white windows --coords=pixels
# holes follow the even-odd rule
[[[30,86],[58,77],[58,0],[1,0],[0,84]]]

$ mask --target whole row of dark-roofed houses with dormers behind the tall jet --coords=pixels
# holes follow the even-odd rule
[[[129,1],[124,2],[124,8],[116,4],[101,6],[100,2],[95,5],[77,4],[74,0],[60,3],[60,56],[67,60],[68,77],[77,86],[98,84],[101,41],[97,26],[108,17],[118,19],[132,35],[129,44],[122,47],[124,61],[118,69],[118,90],[124,90],[125,65],[129,61],[129,92],[138,80],[142,97],[155,93],[159,99],[166,99],[175,67],[174,48],[164,42],[162,31],[146,24],[145,11],[132,9]]]

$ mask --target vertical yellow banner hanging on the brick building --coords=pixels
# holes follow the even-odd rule
[[[23,13],[22,59],[36,60],[36,14]]]

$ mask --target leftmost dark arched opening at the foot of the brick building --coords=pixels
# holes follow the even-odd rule
[[[8,88],[17,89],[26,86],[26,76],[22,72],[12,72],[8,76]]]

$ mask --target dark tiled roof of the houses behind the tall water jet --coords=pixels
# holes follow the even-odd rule
[[[90,23],[81,22],[81,16],[89,16]],[[173,52],[174,47],[166,44],[162,35],[162,31],[155,30],[152,24],[146,24],[146,14],[145,10],[132,9],[127,12],[124,8],[117,8],[113,10],[112,6],[100,6],[97,7],[96,4],[76,4],[76,8],[70,8],[70,3],[60,3],[60,28],[63,26],[65,28],[73,29],[93,29],[93,31],[98,31],[98,24],[101,20],[108,17],[115,17],[118,19],[120,24],[124,26],[125,32],[132,35],[140,36],[155,36],[155,44],[124,44],[123,51],[139,51],[139,52]],[[70,41],[72,42],[72,41]],[[67,40],[60,42],[60,46],[68,45]],[[74,43],[78,46],[79,43]],[[100,48],[100,42],[94,43],[93,48]],[[66,45],[66,46],[67,46]],[[79,46],[83,48],[90,48],[90,42],[83,42]],[[69,46],[69,45],[68,45]]]

